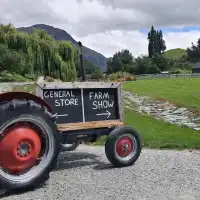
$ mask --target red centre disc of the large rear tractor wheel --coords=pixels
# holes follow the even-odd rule
[[[10,173],[33,167],[41,152],[41,139],[31,126],[18,124],[8,128],[0,141],[0,166]]]

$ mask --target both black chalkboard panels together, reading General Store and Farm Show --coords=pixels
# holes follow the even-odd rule
[[[57,124],[120,119],[118,87],[54,87],[39,91],[42,92],[38,94],[51,106]]]

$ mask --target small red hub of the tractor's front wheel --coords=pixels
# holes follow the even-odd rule
[[[128,136],[123,136],[116,142],[116,153],[119,157],[129,156],[133,152],[133,149],[134,141]]]

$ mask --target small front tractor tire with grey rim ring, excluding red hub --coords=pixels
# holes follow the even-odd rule
[[[129,135],[130,138],[134,138],[135,148],[134,152],[132,152],[132,156],[127,159],[122,159],[116,153],[116,142],[123,136]],[[136,160],[139,158],[141,153],[141,140],[140,136],[135,129],[132,127],[118,127],[115,128],[108,135],[106,144],[105,144],[105,153],[107,159],[115,166],[115,167],[126,167],[133,165]]]

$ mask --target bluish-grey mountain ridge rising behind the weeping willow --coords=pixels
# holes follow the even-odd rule
[[[71,41],[74,45],[78,46],[78,42],[66,31],[55,28],[53,26],[49,26],[46,24],[36,24],[30,27],[20,27],[17,28],[18,31],[23,31],[26,33],[30,33],[33,31],[33,29],[42,29],[46,31],[49,35],[51,35],[55,40],[67,40]],[[100,67],[102,71],[106,70],[106,57],[103,56],[102,54],[83,46],[83,56],[90,62],[92,62],[94,65]]]

